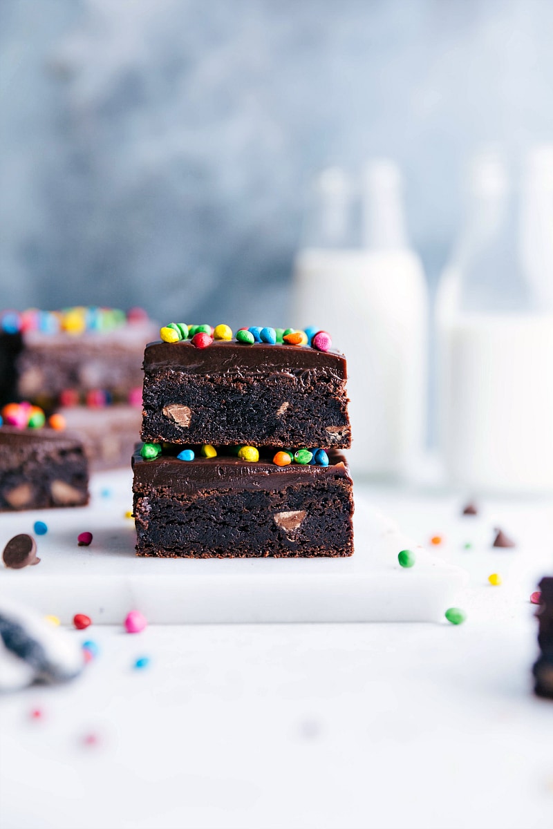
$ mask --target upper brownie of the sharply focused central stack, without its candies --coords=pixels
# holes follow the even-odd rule
[[[289,345],[152,342],[145,441],[348,448],[346,358]]]

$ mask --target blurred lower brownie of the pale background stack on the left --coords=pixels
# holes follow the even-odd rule
[[[91,470],[129,468],[140,435],[141,409],[124,405],[102,409],[68,406],[58,412],[67,429],[82,440]]]

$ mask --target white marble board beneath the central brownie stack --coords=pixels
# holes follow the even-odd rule
[[[121,623],[133,608],[149,623],[415,622],[443,618],[468,576],[406,538],[363,497],[356,498],[355,554],[347,559],[140,559],[127,471],[91,482],[90,506],[0,515],[0,549],[36,520],[41,563],[0,569],[0,591],[69,624],[75,613]],[[90,547],[77,536],[93,533]],[[415,550],[403,570],[400,550]]]

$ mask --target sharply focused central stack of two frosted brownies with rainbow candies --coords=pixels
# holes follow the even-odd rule
[[[316,334],[172,323],[148,344],[138,555],[352,555],[346,360]]]

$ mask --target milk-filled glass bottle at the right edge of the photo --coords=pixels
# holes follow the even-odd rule
[[[440,444],[471,492],[553,488],[553,318],[520,257],[502,158],[476,158],[463,237],[439,286]]]

